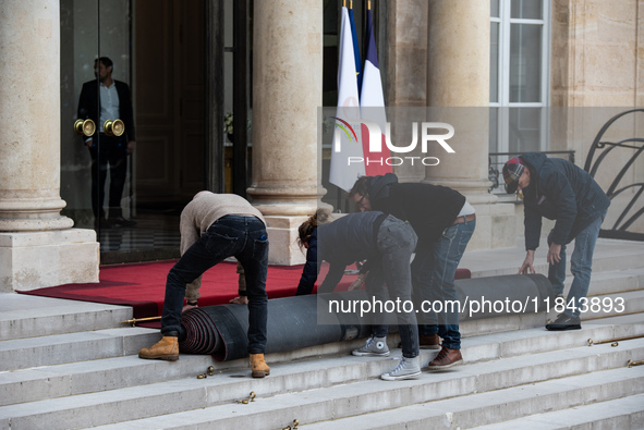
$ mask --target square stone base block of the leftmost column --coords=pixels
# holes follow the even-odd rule
[[[99,258],[94,230],[0,232],[0,292],[98,282]]]

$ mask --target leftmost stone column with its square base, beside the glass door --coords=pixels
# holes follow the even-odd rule
[[[58,0],[0,2],[0,292],[98,280],[96,234],[60,214],[59,26]]]

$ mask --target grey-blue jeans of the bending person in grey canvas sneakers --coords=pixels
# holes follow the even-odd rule
[[[376,297],[382,303],[392,300],[403,304],[400,309],[396,309],[396,317],[402,343],[402,356],[406,358],[414,358],[421,353],[416,314],[412,306],[410,269],[410,259],[416,241],[416,233],[408,222],[388,216],[380,224],[376,241],[381,260],[375,261],[366,281],[369,298]],[[408,306],[404,306],[405,303]],[[377,337],[386,336],[388,327],[378,321],[375,322],[376,324],[372,327],[373,334]]]

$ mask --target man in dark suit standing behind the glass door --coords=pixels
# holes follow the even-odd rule
[[[123,218],[121,197],[127,174],[127,156],[135,145],[134,112],[127,84],[112,79],[113,63],[107,57],[94,62],[97,79],[83,84],[78,100],[78,119],[90,119],[98,132],[85,139],[92,156],[92,209],[97,224],[134,226],[136,222]],[[121,136],[105,134],[106,120],[123,121],[125,132]],[[102,202],[108,165],[110,170],[109,219],[105,219]],[[98,183],[97,183],[98,181]]]

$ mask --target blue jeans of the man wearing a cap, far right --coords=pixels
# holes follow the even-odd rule
[[[570,243],[574,238],[574,250],[570,258],[570,271],[573,280],[566,300],[566,310],[563,311],[563,314],[570,317],[580,316],[580,306],[584,305],[584,300],[581,299],[585,298],[586,294],[588,294],[591,272],[593,270],[593,253],[606,212],[607,210],[568,241]],[[550,234],[548,234],[548,246],[552,243],[551,236],[552,232],[550,231]],[[561,245],[559,256],[561,260],[548,267],[548,280],[552,284],[555,294],[563,294],[563,282],[566,281],[566,244]]]

